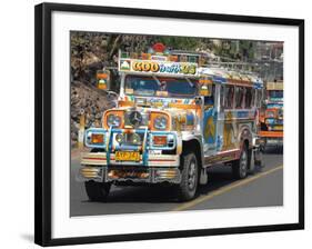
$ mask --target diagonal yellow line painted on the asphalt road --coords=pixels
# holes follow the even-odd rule
[[[250,177],[250,178],[243,179],[241,181],[233,182],[233,183],[231,183],[231,185],[229,185],[227,187],[222,187],[222,188],[220,188],[218,190],[214,190],[214,191],[210,192],[208,196],[202,196],[202,197],[199,197],[199,198],[197,198],[197,199],[194,199],[194,200],[192,200],[190,202],[180,205],[177,208],[172,209],[171,211],[182,211],[182,210],[189,209],[189,208],[194,207],[194,206],[197,206],[197,205],[199,205],[199,203],[201,203],[203,201],[210,200],[213,197],[220,196],[220,195],[222,195],[224,192],[228,192],[228,191],[230,191],[230,190],[232,190],[234,188],[248,185],[248,183],[250,183],[250,182],[252,182],[252,181],[254,181],[254,180],[256,180],[259,178],[262,178],[262,177],[265,177],[265,176],[268,176],[270,173],[273,173],[273,172],[275,172],[275,171],[278,171],[278,170],[280,170],[282,168],[283,168],[283,166],[278,166],[278,167],[275,167],[273,169],[270,169],[268,171],[261,172],[261,173],[259,173],[259,175],[256,175],[254,177]]]

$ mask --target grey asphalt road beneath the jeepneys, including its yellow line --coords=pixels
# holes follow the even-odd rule
[[[189,202],[179,202],[171,187],[161,186],[113,186],[107,202],[91,202],[85,195],[83,182],[76,180],[79,160],[73,158],[71,163],[72,217],[283,205],[283,155],[274,151],[264,155],[264,169],[243,180],[233,180],[230,167],[211,168],[209,182],[200,186],[198,197]]]

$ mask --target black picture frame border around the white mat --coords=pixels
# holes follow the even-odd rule
[[[51,14],[70,11],[97,14],[123,14],[188,20],[212,20],[240,23],[281,24],[299,28],[299,222],[270,226],[252,226],[219,229],[180,230],[165,232],[128,233],[78,238],[51,238],[51,143],[53,139],[51,117]],[[34,242],[41,246],[78,245],[128,240],[164,239],[179,237],[213,236],[263,231],[304,229],[304,20],[266,17],[181,12],[151,9],[131,9],[99,6],[41,3],[36,6],[34,18]]]

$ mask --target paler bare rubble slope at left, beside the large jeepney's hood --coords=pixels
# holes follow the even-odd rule
[[[73,81],[71,83],[70,103],[71,146],[76,147],[78,142],[81,114],[84,114],[85,118],[84,128],[99,127],[103,112],[115,106],[115,98],[90,84]]]

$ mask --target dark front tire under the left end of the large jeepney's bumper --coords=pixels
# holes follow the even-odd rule
[[[91,201],[105,201],[110,192],[111,183],[85,181],[84,188]]]

